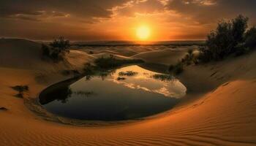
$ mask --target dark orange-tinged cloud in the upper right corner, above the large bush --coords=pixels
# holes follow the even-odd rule
[[[255,0],[170,0],[167,8],[199,23],[216,23],[222,18],[233,18],[242,14],[255,23]]]

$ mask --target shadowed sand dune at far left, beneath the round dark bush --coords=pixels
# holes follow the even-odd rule
[[[54,63],[42,59],[41,44],[26,39],[0,39],[0,66],[15,69],[47,70],[56,72],[61,69],[81,67],[93,56],[78,50],[71,50],[65,61]]]

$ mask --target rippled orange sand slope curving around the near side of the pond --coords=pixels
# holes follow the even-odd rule
[[[76,64],[74,56],[72,59],[70,64]],[[151,59],[154,62],[157,57]],[[23,99],[13,96],[10,86],[29,85],[29,98],[35,99],[43,88],[67,77],[51,72],[45,74],[48,80],[39,83],[35,77],[44,69],[1,64],[0,107],[8,110],[0,111],[0,145],[256,145],[255,60],[256,53],[252,53],[233,61],[190,66],[180,79],[189,89],[187,98],[197,97],[195,100],[165,116],[107,127],[42,120],[26,108]]]

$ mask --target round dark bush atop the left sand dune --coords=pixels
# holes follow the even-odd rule
[[[49,45],[42,44],[42,55],[53,61],[61,61],[64,59],[64,55],[69,53],[70,46],[69,40],[59,37],[59,39],[50,42]]]

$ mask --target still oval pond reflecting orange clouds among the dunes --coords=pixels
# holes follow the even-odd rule
[[[172,77],[140,66],[109,74],[61,82],[43,91],[40,104],[48,112],[80,120],[129,120],[170,110],[187,88]]]

